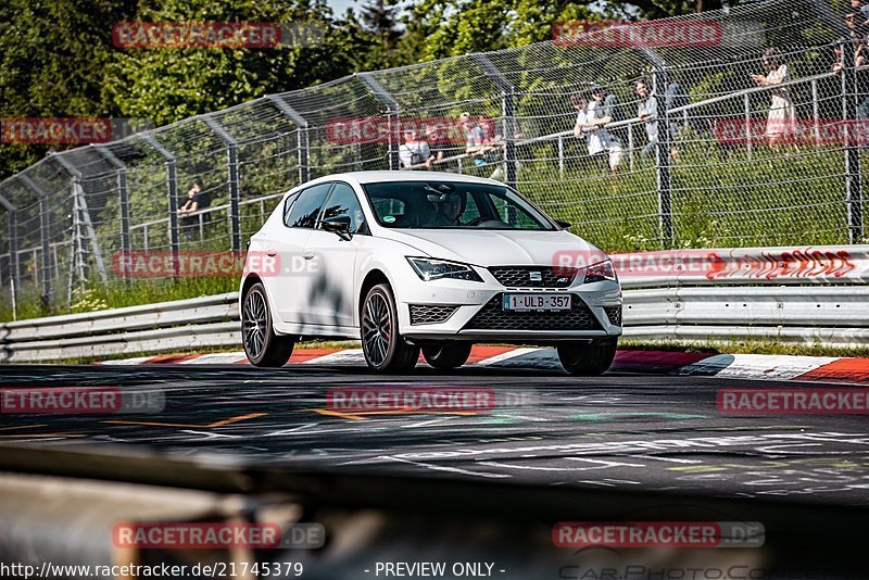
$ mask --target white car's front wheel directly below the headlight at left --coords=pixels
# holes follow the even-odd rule
[[[362,352],[365,363],[377,373],[412,369],[419,360],[419,346],[404,342],[392,289],[379,283],[368,290],[362,304]]]

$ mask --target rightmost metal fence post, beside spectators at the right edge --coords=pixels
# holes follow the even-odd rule
[[[857,118],[857,71],[854,46],[849,40],[842,47],[842,118],[845,121],[845,203],[847,205],[848,242],[862,241],[862,191],[860,187],[860,149],[854,139]]]

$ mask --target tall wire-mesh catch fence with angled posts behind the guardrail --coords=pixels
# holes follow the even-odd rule
[[[0,184],[0,294],[65,307],[76,288],[123,287],[123,252],[243,251],[288,189],[398,169],[403,131],[438,125],[431,168],[501,179],[607,251],[865,242],[869,68],[844,15],[773,0],[563,35],[51,154]],[[612,119],[577,137],[597,86]],[[486,154],[466,153],[475,126]],[[209,202],[179,216],[193,179]]]

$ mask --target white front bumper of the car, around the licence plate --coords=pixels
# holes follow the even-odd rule
[[[556,344],[600,342],[621,335],[621,289],[616,281],[579,280],[566,288],[507,288],[488,269],[475,269],[482,282],[406,280],[410,283],[396,297],[402,336],[416,343]],[[557,313],[508,313],[500,306],[504,293],[572,294],[574,306]],[[449,317],[438,321],[444,313]]]

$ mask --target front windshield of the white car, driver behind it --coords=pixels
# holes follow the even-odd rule
[[[553,230],[552,222],[505,186],[462,181],[388,181],[363,186],[388,228]]]

